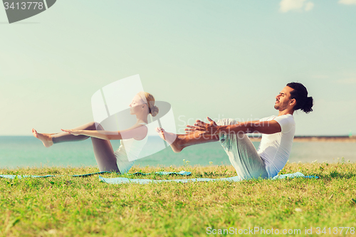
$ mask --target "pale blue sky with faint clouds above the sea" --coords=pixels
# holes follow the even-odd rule
[[[68,1],[7,23],[0,10],[0,135],[93,120],[90,98],[140,74],[188,120],[275,115],[290,81],[315,98],[296,135],[356,134],[356,1]]]

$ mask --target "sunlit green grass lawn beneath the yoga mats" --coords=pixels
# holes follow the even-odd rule
[[[190,177],[236,175],[231,166],[133,167],[130,172],[181,170]],[[98,172],[84,168],[0,169],[0,174],[64,174],[46,179],[0,179],[0,236],[208,236],[206,228],[261,227],[300,229],[356,228],[356,164],[287,164],[281,174],[302,172],[320,179],[250,180],[120,184],[100,182],[98,176],[67,174]],[[105,174],[105,177],[118,177]],[[229,229],[231,230],[231,229]],[[346,229],[343,230],[342,236]],[[251,233],[251,232],[250,232]],[[350,234],[350,229],[345,236]],[[219,236],[219,235],[216,235]],[[231,236],[239,236],[238,234]],[[253,236],[253,235],[249,235]],[[259,236],[259,232],[255,236]],[[268,235],[271,236],[271,235]],[[286,235],[281,235],[286,236]],[[294,236],[294,235],[292,235]]]

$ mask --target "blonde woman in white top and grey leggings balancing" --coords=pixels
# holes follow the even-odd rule
[[[73,142],[91,138],[94,154],[100,172],[117,172],[124,174],[134,164],[127,158],[130,154],[138,158],[142,147],[147,142],[147,116],[155,117],[158,113],[155,106],[155,98],[150,93],[140,92],[135,95],[130,103],[130,114],[136,115],[136,123],[127,130],[110,132],[103,130],[98,122],[89,122],[73,130],[62,130],[59,133],[38,133],[32,129],[33,136],[40,139],[45,147],[51,147],[60,142]],[[125,147],[122,142],[119,149],[114,152],[110,140],[125,139]],[[130,153],[129,153],[130,152]]]

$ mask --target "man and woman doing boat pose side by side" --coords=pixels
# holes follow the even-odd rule
[[[295,122],[293,112],[302,110],[310,112],[313,98],[308,97],[308,91],[301,83],[288,83],[276,96],[274,108],[278,115],[264,117],[261,120],[236,122],[232,119],[222,119],[214,122],[208,117],[209,123],[197,120],[194,125],[187,125],[184,135],[175,135],[158,127],[157,132],[166,140],[174,152],[181,152],[185,147],[206,142],[221,142],[231,164],[242,179],[267,179],[275,177],[288,161],[293,144]],[[100,172],[110,171],[124,174],[134,164],[127,159],[127,149],[139,149],[147,142],[147,116],[156,116],[158,107],[155,98],[150,93],[140,92],[130,103],[130,114],[136,115],[137,122],[127,130],[117,132],[105,131],[97,122],[76,127],[73,130],[62,130],[59,133],[38,133],[32,130],[33,136],[40,139],[45,147],[60,142],[73,142],[88,139],[93,142],[95,159]],[[262,134],[261,143],[256,150],[247,133]],[[115,152],[111,139],[130,139],[127,145],[122,142]],[[125,142],[126,144],[126,142]]]

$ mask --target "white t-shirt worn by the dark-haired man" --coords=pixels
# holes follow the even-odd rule
[[[268,177],[275,177],[288,161],[295,133],[295,122],[293,115],[289,114],[264,117],[260,121],[271,120],[276,120],[281,125],[281,132],[263,134],[257,152],[266,164]]]

